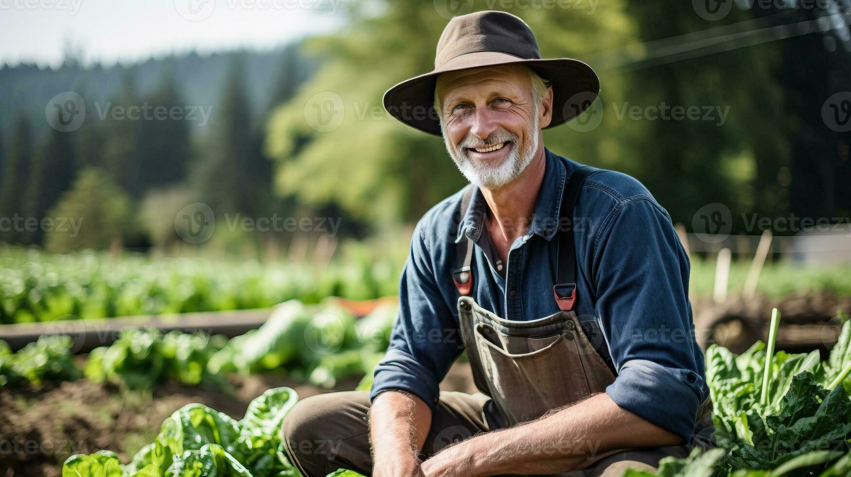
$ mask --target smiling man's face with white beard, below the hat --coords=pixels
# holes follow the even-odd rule
[[[550,121],[534,104],[528,72],[511,65],[446,72],[437,88],[443,140],[468,181],[494,189],[526,169]]]

